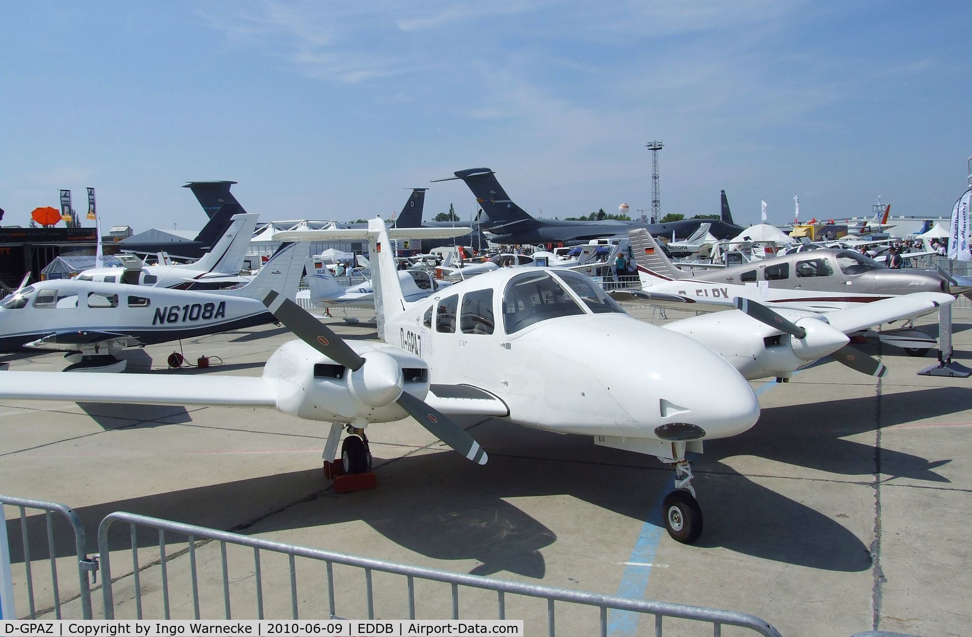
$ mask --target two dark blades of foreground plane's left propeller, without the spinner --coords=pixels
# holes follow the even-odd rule
[[[263,299],[270,313],[300,340],[321,352],[338,365],[343,365],[352,372],[361,370],[367,361],[355,350],[334,334],[328,326],[321,323],[310,313],[304,311],[294,301],[281,297],[276,292],[270,292]],[[489,457],[486,451],[472,439],[466,430],[457,425],[448,416],[434,407],[426,404],[411,394],[401,392],[396,403],[408,415],[429,430],[432,435],[445,442],[469,460],[484,465]]]

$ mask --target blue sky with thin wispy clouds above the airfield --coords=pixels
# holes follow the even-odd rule
[[[948,214],[972,155],[964,3],[32,2],[0,7],[0,207],[198,229],[190,180],[260,219],[426,218],[488,166],[545,217]]]

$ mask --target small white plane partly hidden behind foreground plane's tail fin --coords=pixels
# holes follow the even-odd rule
[[[370,264],[368,264],[370,266]],[[401,291],[405,301],[425,299],[434,292],[451,285],[448,281],[436,279],[424,269],[398,270]],[[358,285],[342,286],[330,272],[330,267],[321,261],[307,263],[307,290],[297,293],[297,299],[308,299],[315,306],[360,307],[374,309],[374,288],[371,280]]]

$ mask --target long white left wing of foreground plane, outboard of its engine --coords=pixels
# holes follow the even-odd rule
[[[277,399],[273,382],[262,376],[0,372],[0,398],[132,405],[275,407]]]

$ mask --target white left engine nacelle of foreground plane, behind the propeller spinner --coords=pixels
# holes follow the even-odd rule
[[[270,356],[263,376],[276,380],[277,408],[310,420],[393,422],[408,414],[395,402],[402,391],[425,400],[425,362],[385,343],[349,345],[365,361],[358,372],[334,363],[301,340],[284,343]]]

